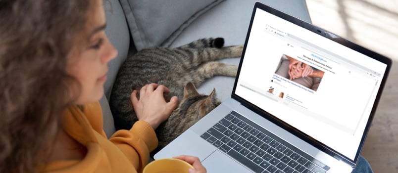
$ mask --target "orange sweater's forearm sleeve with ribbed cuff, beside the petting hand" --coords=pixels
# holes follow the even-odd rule
[[[130,160],[138,172],[142,172],[149,161],[149,152],[157,145],[153,128],[144,121],[137,121],[130,130],[118,130],[109,140]]]

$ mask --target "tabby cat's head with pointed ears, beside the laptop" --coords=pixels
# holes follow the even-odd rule
[[[203,117],[220,104],[221,101],[216,98],[215,89],[209,95],[199,94],[194,84],[188,83],[184,87],[184,97],[178,109],[185,115]]]

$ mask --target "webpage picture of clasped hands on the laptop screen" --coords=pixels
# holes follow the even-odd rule
[[[325,72],[283,54],[275,74],[316,91]]]

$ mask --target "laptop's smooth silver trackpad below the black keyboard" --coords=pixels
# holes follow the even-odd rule
[[[252,173],[237,161],[221,153],[214,151],[209,157],[202,161],[207,173]]]

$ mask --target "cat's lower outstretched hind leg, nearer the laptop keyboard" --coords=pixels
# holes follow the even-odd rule
[[[207,62],[199,66],[192,72],[192,82],[199,87],[205,80],[214,76],[235,77],[238,72],[238,66],[225,64],[217,61]]]

